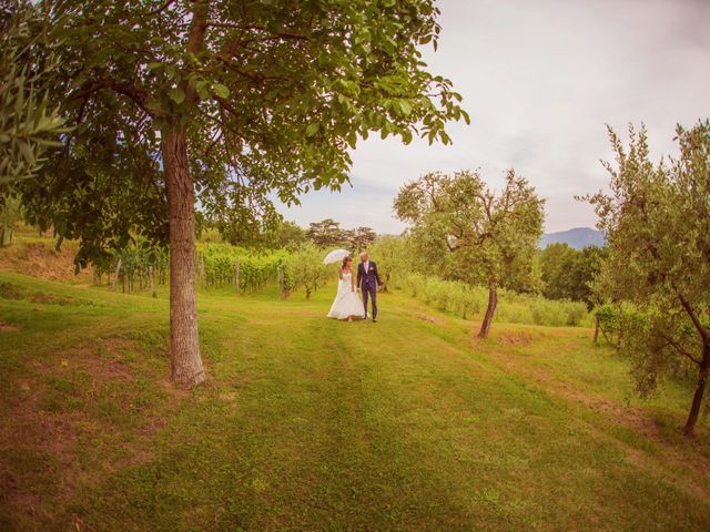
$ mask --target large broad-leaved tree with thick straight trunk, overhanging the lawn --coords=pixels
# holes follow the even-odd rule
[[[420,61],[440,30],[432,0],[47,4],[62,41],[58,96],[81,125],[23,200],[37,223],[81,241],[80,266],[114,245],[112,233],[168,235],[176,383],[205,378],[195,201],[256,231],[278,219],[274,196],[339,190],[358,136],[448,143],[445,123],[468,121],[450,82]]]

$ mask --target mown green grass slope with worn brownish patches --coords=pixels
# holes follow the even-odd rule
[[[676,429],[689,392],[627,406],[587,330],[474,344],[398,294],[348,324],[324,318],[327,289],[225,290],[200,296],[211,379],[189,392],[165,381],[164,293],[3,282],[0,529],[710,526],[707,421]]]

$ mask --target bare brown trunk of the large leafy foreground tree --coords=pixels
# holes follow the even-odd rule
[[[184,126],[162,134],[170,215],[170,355],[178,385],[204,381],[195,301],[195,193],[187,164]]]

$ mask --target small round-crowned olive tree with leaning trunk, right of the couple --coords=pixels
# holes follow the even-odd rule
[[[498,287],[531,282],[532,257],[542,234],[544,201],[509,170],[499,195],[476,172],[427,174],[395,200],[397,217],[412,224],[418,254],[444,278],[488,286],[478,336],[487,338]]]

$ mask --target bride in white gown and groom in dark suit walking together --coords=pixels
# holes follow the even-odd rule
[[[343,265],[338,272],[337,294],[328,313],[328,318],[347,319],[353,318],[367,319],[367,299],[372,300],[373,323],[377,321],[377,287],[382,287],[377,265],[369,259],[367,253],[359,254],[359,264],[357,265],[357,282],[353,277],[353,259],[345,257]],[[363,293],[361,303],[355,287]]]

